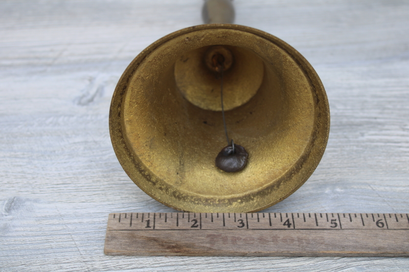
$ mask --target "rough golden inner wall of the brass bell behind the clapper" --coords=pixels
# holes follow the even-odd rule
[[[234,58],[223,82],[224,103],[229,105],[226,126],[229,137],[249,155],[246,167],[235,173],[215,166],[227,144],[220,80],[203,60],[215,45],[226,46]],[[118,109],[139,176],[132,178],[124,169],[137,185],[167,205],[169,199],[188,203],[169,206],[214,212],[257,210],[305,182],[311,169],[298,183],[283,181],[300,171],[311,150],[317,114],[314,91],[303,68],[285,49],[254,33],[217,28],[173,36],[151,48],[136,60],[137,68],[130,65],[133,70]],[[183,62],[187,56],[195,60]],[[187,97],[186,90],[199,95]],[[272,187],[277,190],[263,193]],[[254,203],[243,208],[245,197]]]

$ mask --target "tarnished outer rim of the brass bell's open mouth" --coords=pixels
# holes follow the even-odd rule
[[[321,123],[320,123],[321,127],[319,128],[319,131],[321,134],[321,137],[320,137],[321,144],[320,146],[316,146],[316,145],[313,146],[315,147],[315,149],[311,150],[311,153],[314,153],[314,156],[313,156],[314,160],[310,159],[306,161],[308,162],[307,165],[303,165],[303,167],[308,168],[307,175],[304,175],[303,179],[299,179],[296,182],[295,186],[291,188],[291,190],[287,190],[286,194],[282,195],[278,199],[275,199],[274,201],[266,205],[262,205],[258,207],[253,206],[253,207],[249,207],[249,209],[240,208],[239,210],[237,210],[236,207],[220,206],[221,203],[214,203],[214,204],[208,203],[208,204],[202,204],[202,205],[195,205],[194,204],[195,201],[193,200],[193,201],[188,201],[189,202],[188,205],[180,205],[180,203],[183,204],[184,201],[175,201],[172,203],[171,201],[164,200],[161,197],[161,195],[158,195],[158,193],[155,192],[155,190],[150,190],[149,188],[147,188],[147,186],[145,186],[142,182],[140,182],[141,178],[147,179],[146,176],[145,177],[143,175],[141,176],[141,172],[144,171],[142,169],[143,166],[135,165],[134,163],[135,158],[133,158],[132,152],[129,151],[129,147],[126,145],[126,140],[124,138],[123,131],[121,131],[121,133],[118,133],[119,127],[122,126],[121,112],[119,109],[121,108],[121,105],[122,105],[123,95],[126,93],[127,84],[129,83],[131,76],[138,69],[143,59],[146,56],[148,56],[151,52],[153,52],[158,46],[160,46],[161,44],[175,37],[178,37],[180,35],[185,35],[185,34],[188,34],[194,31],[198,31],[198,30],[215,29],[215,28],[233,29],[233,30],[249,32],[257,36],[260,36],[264,39],[267,39],[270,42],[275,43],[280,48],[282,48],[289,56],[291,56],[294,59],[294,61],[297,62],[297,64],[302,68],[302,70],[305,71],[306,77],[308,78],[310,85],[313,87],[315,92],[320,92],[321,94],[320,106],[321,106],[321,111],[324,113],[321,116],[323,120],[321,120]],[[315,128],[315,125],[314,125],[314,128]],[[268,34],[260,30],[257,30],[257,29],[254,29],[254,28],[240,26],[238,24],[220,24],[220,23],[202,24],[199,26],[194,26],[194,27],[189,27],[189,28],[178,30],[176,32],[170,33],[162,37],[161,39],[158,39],[157,41],[153,42],[151,45],[146,47],[145,50],[143,50],[137,57],[135,57],[132,60],[132,62],[128,65],[128,67],[125,69],[125,71],[123,72],[120,80],[118,81],[117,87],[112,95],[110,111],[109,111],[109,131],[110,131],[110,138],[111,138],[112,146],[113,146],[113,149],[115,151],[115,154],[121,166],[123,167],[127,175],[131,178],[131,180],[138,187],[140,187],[145,193],[147,193],[149,196],[151,196],[156,201],[168,207],[174,208],[176,210],[187,211],[187,212],[256,212],[256,211],[260,211],[265,208],[268,208],[272,205],[275,205],[278,202],[283,201],[284,199],[286,199],[286,197],[288,197],[293,192],[298,190],[309,179],[309,177],[312,175],[312,173],[316,169],[326,149],[326,145],[327,145],[328,137],[329,137],[329,128],[330,128],[330,111],[329,111],[328,98],[327,98],[324,86],[319,76],[317,75],[313,67],[311,66],[311,64],[297,50],[295,50],[292,46],[290,46],[283,40],[277,38],[276,36]],[[130,166],[129,160],[133,161],[133,163],[131,163],[133,164],[133,167]],[[137,172],[139,172],[139,174]],[[151,183],[155,183],[155,181],[153,180],[154,179],[151,180]],[[174,192],[169,192],[169,193],[174,194]],[[251,193],[252,191],[246,194],[250,195]],[[223,199],[222,197],[218,197],[218,198],[220,200]],[[237,197],[237,199],[239,198],[240,197]],[[227,203],[229,202],[231,203],[232,201],[237,201],[237,199],[232,200],[232,198],[229,196],[227,197],[227,200],[228,200]],[[221,202],[223,202],[223,200]]]

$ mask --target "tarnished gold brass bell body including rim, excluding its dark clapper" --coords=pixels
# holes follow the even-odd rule
[[[230,137],[249,154],[240,172],[215,166],[226,144],[221,113],[193,105],[177,84],[179,61],[212,45],[232,50],[230,71],[263,64],[262,76],[249,71],[225,83],[252,86],[261,78],[247,103],[225,113]],[[239,63],[235,52],[252,57]],[[237,88],[238,95],[245,91]],[[183,211],[250,212],[282,201],[310,177],[324,153],[329,120],[319,77],[291,46],[256,29],[205,24],[165,36],[131,62],[112,97],[109,129],[128,176],[155,200]]]

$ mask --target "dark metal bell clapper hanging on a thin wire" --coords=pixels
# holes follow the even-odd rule
[[[229,141],[227,132],[226,119],[224,117],[223,107],[223,70],[224,70],[224,56],[216,53],[212,56],[211,64],[217,72],[220,73],[220,100],[221,100],[221,114],[223,116],[224,133],[226,134],[227,146],[224,147],[216,157],[216,166],[225,172],[238,172],[242,170],[248,159],[248,154],[243,146],[235,144],[233,139]]]

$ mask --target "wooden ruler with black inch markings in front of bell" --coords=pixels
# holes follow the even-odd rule
[[[111,213],[105,254],[409,257],[400,213]]]

